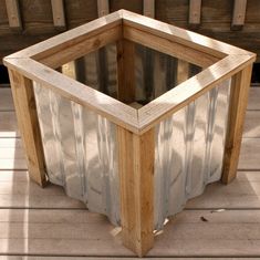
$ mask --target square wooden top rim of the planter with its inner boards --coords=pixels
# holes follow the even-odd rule
[[[205,70],[141,110],[52,70],[122,38],[199,64]],[[254,60],[251,52],[121,10],[7,56],[4,64],[113,123],[143,134]]]

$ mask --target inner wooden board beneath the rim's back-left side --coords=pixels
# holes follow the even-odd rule
[[[76,60],[81,56],[86,55],[90,52],[96,51],[106,44],[113,43],[121,39],[122,30],[121,27],[114,27],[107,29],[104,32],[101,32],[97,35],[92,35],[86,38],[84,41],[81,41],[73,45],[64,46],[58,52],[45,53],[45,56],[37,56],[37,60],[49,67],[56,69],[70,61]]]

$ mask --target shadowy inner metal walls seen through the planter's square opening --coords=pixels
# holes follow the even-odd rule
[[[128,103],[139,108],[150,101],[196,75],[201,67],[184,60],[134,43],[134,101]],[[59,70],[76,81],[118,100],[116,43],[87,53]],[[124,69],[127,73],[127,67]]]

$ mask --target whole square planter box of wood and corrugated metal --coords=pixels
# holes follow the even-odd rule
[[[178,59],[179,70],[175,87],[158,91],[155,81],[157,94],[138,108],[136,43]],[[115,92],[67,76],[71,61],[107,44],[117,64]],[[236,177],[254,59],[125,10],[7,56],[31,178],[62,185],[90,210],[107,215],[122,226],[124,245],[144,256],[154,230],[188,198],[208,183]],[[201,67],[190,79],[183,76],[189,63]]]

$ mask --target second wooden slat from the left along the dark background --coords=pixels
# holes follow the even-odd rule
[[[55,28],[65,29],[65,12],[63,0],[51,0],[53,23]]]

